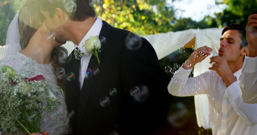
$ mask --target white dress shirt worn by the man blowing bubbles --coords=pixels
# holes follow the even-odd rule
[[[257,133],[257,104],[242,102],[237,82],[226,88],[223,79],[214,71],[188,78],[191,71],[181,66],[168,85],[170,94],[181,97],[207,94],[214,135]],[[241,69],[234,76],[238,79],[240,74]]]

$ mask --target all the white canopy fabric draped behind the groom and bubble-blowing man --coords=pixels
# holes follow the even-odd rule
[[[195,47],[199,48],[206,45],[213,48],[213,50],[217,53],[221,32],[222,28],[208,28],[203,30],[189,29],[184,31],[161,33],[157,35],[146,35],[142,37],[147,39],[152,44],[157,53],[158,59],[160,60],[178,50],[193,38],[196,38]],[[67,41],[63,47],[65,47],[70,54],[74,49],[74,43]],[[0,59],[3,58],[4,49],[4,46],[0,46]],[[209,71],[208,68],[211,67],[211,64],[209,64],[209,58],[211,56],[208,56],[205,60],[195,65],[195,76]],[[207,95],[195,96],[195,108],[198,126],[204,127],[205,129],[211,128]]]

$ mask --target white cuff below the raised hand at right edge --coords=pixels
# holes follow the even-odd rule
[[[242,73],[254,73],[257,68],[257,57],[247,57],[245,55]]]

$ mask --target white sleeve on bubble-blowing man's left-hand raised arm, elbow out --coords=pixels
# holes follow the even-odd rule
[[[194,96],[197,94],[207,94],[206,80],[209,77],[208,73],[203,73],[196,77],[188,78],[191,70],[181,68],[173,75],[173,79],[168,85],[168,91],[173,96]]]

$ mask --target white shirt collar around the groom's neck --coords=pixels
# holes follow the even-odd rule
[[[88,56],[89,53],[87,53],[85,48],[82,48],[83,43],[85,43],[85,41],[92,36],[98,36],[99,37],[102,27],[103,27],[103,21],[100,18],[97,17],[93,26],[89,29],[89,31],[87,32],[85,37],[80,41],[79,45],[74,44],[75,48],[78,47],[79,50],[81,50],[82,52],[86,52],[85,55]]]

